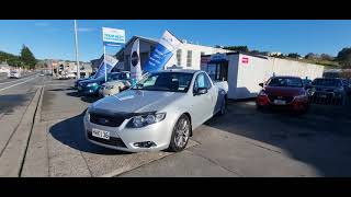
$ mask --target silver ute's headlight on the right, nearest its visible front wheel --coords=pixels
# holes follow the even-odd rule
[[[159,123],[159,121],[163,120],[165,117],[166,117],[166,113],[156,113],[156,114],[134,116],[129,120],[127,127],[132,127],[132,128],[145,127],[147,125]]]

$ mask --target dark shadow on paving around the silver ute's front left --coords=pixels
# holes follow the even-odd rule
[[[84,136],[84,113],[86,112],[53,125],[49,134],[61,143],[82,152],[95,154],[129,154],[128,152],[112,150],[89,142]]]

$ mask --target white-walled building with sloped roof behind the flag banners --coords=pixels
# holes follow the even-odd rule
[[[158,39],[147,38],[143,36],[133,36],[124,47],[117,51],[115,55],[116,59],[118,59],[118,63],[116,66],[120,70],[131,70],[131,51],[134,40],[139,38],[139,50],[140,50],[140,63],[141,70],[151,53],[156,48],[158,44]],[[201,66],[201,56],[211,55],[216,53],[229,53],[230,50],[226,50],[223,48],[202,46],[196,44],[188,43],[186,40],[182,40],[183,44],[179,47],[171,59],[167,62],[166,68],[177,66],[182,67],[183,69],[195,69],[200,70]]]

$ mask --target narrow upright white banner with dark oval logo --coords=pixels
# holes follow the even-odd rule
[[[140,65],[140,42],[139,38],[135,39],[131,53],[131,78],[133,80],[140,80],[141,65]]]

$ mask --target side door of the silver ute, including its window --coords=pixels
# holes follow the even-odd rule
[[[207,93],[205,94],[195,94],[195,90],[199,88],[207,88]],[[204,72],[201,72],[196,76],[193,86],[192,102],[191,102],[191,112],[192,112],[192,124],[194,127],[203,124],[208,117],[212,116],[213,111],[213,97],[211,83],[206,81],[206,76]]]

